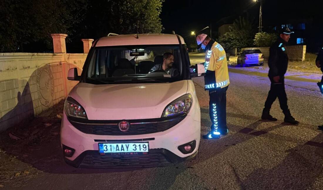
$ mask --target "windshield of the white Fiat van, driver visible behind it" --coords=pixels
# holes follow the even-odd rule
[[[165,83],[183,78],[178,45],[96,47],[90,56],[87,83]]]

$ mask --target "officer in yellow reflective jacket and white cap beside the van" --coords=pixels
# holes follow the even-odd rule
[[[223,47],[206,34],[196,37],[197,45],[201,45],[205,53],[204,77],[205,90],[209,90],[211,131],[203,135],[204,139],[218,139],[228,133],[226,125],[226,91],[230,84],[226,54]]]

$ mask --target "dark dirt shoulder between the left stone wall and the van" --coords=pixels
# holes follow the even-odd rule
[[[27,181],[64,164],[59,142],[64,100],[36,118],[0,133],[0,187]],[[57,116],[58,115],[58,116]]]

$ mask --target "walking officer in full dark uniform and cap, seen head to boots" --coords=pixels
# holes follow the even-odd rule
[[[269,121],[277,121],[276,118],[270,115],[269,111],[271,105],[278,97],[280,108],[285,115],[284,122],[297,125],[299,122],[291,115],[287,105],[287,95],[285,92],[284,75],[287,71],[288,56],[286,45],[289,41],[290,34],[294,33],[290,31],[288,27],[281,30],[278,40],[269,49],[269,73],[270,79],[270,91],[265,102],[265,108],[263,110],[261,119]]]

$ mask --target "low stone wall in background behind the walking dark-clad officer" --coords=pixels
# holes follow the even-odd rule
[[[269,57],[269,47],[242,48],[242,50],[260,50],[266,59]],[[304,61],[306,54],[306,45],[287,46],[288,59],[291,61]]]

